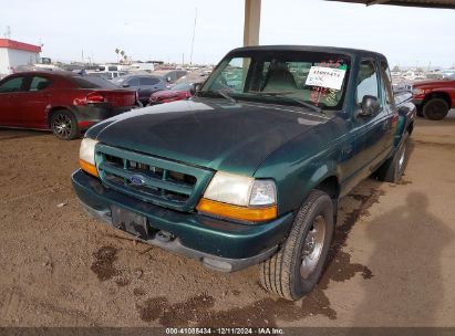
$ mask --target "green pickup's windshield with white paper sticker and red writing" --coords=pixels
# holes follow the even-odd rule
[[[348,55],[299,52],[241,52],[225,59],[207,80],[200,96],[255,99],[340,109],[351,60]]]

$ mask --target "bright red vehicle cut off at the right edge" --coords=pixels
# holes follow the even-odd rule
[[[448,111],[455,108],[455,77],[416,82],[412,86],[412,93],[417,115],[428,119],[444,119]]]

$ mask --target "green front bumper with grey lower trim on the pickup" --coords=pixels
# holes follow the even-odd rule
[[[148,225],[158,233],[169,232],[175,237],[163,241],[156,233],[146,243],[197,259],[221,272],[238,271],[268,259],[286,240],[293,221],[293,214],[288,213],[268,223],[247,225],[169,210],[108,189],[82,170],[73,174],[72,182],[81,203],[92,216],[112,225],[114,204],[145,216]]]

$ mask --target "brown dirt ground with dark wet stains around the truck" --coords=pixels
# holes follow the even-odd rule
[[[0,326],[455,326],[455,112],[412,139],[401,183],[341,201],[330,265],[289,303],[256,266],[215,273],[91,219],[79,140],[0,129]]]

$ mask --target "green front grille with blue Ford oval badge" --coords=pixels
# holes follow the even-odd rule
[[[105,145],[96,146],[96,166],[106,187],[141,200],[192,211],[213,171]]]

